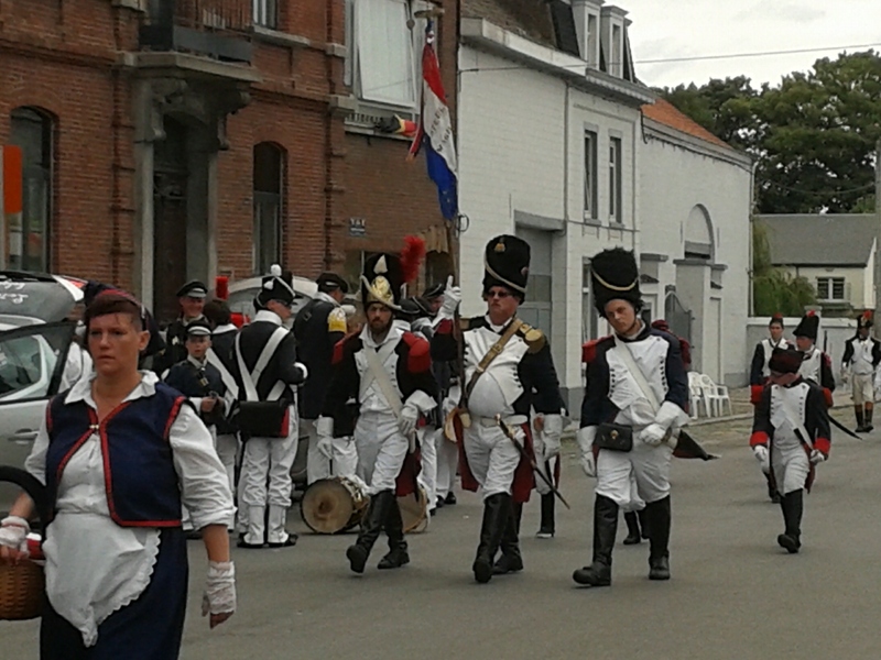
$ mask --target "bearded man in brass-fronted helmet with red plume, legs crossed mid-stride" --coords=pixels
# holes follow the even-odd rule
[[[377,254],[365,264],[361,302],[367,323],[337,344],[334,374],[316,425],[319,443],[351,436],[349,402],[357,402],[357,474],[367,484],[370,505],[358,540],[346,551],[355,573],[363,573],[383,530],[389,552],[378,568],[396,569],[410,562],[396,496],[418,494],[416,429],[437,405],[428,342],[413,334],[407,321],[395,319],[404,283],[417,272],[417,260],[394,254]]]

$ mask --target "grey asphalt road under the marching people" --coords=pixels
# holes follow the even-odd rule
[[[881,657],[881,431],[866,442],[834,435],[833,459],[806,499],[797,556],[776,546],[782,516],[765,496],[747,435],[743,421],[696,428],[721,460],[674,461],[670,582],[648,580],[646,542],[619,542],[611,587],[573,583],[572,571],[589,562],[592,482],[568,446],[563,491],[573,510],[558,508],[556,538],[539,540],[537,502],[527,505],[526,570],[488,585],[470,573],[481,516],[472,494],[410,538],[412,563],[399,571],[373,568],[381,540],[367,573],[351,575],[351,535],[303,534],[295,548],[236,551],[239,612],[215,631],[197,612],[205,560],[193,542],[182,658]],[[298,514],[291,527],[303,531]],[[36,629],[34,622],[1,623],[0,656],[36,658]]]

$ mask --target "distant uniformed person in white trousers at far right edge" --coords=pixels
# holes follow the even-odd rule
[[[872,312],[867,311],[857,320],[857,334],[845,342],[841,359],[841,376],[850,381],[858,433],[868,433],[874,428],[874,375],[881,363],[881,342],[869,334],[871,328]]]

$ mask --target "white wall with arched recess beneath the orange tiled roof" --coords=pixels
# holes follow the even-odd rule
[[[688,216],[697,205],[701,205],[713,224],[715,263],[727,268],[720,274],[722,288],[707,292],[703,305],[686,300],[705,310],[703,337],[693,337],[693,343],[704,353],[720,346],[721,356],[704,354],[704,363],[720,366],[719,381],[733,386],[743,385],[749,377],[742,346],[747,340],[744,321],[749,315],[750,166],[726,162],[709,148],[701,153],[699,145],[689,144],[687,140],[676,142],[651,131],[646,142],[638,142],[640,252],[668,257],[660,264],[660,283],[651,288],[657,292],[659,297],[655,316],[664,314],[665,287],[676,284],[674,262],[685,256]],[[710,302],[710,295],[720,298],[720,310],[714,309],[716,305]],[[721,317],[720,328],[716,314]]]

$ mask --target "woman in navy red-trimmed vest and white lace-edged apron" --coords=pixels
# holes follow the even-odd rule
[[[85,322],[95,373],[52,399],[25,463],[54,509],[41,658],[174,660],[187,595],[181,506],[203,532],[203,614],[214,627],[236,610],[232,495],[198,413],[138,371],[150,340],[140,304],[100,294]],[[22,559],[32,510],[23,495],[0,524],[0,559]]]

